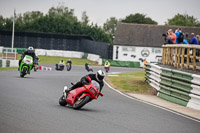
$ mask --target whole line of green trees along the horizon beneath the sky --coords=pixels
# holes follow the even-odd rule
[[[145,14],[136,13],[119,20],[115,17],[110,17],[103,24],[103,27],[101,27],[97,24],[89,24],[89,17],[85,11],[82,13],[82,18],[79,21],[74,15],[74,9],[69,9],[68,7],[60,5],[58,7],[51,7],[47,14],[43,14],[40,11],[17,14],[15,17],[15,31],[88,35],[96,41],[112,44],[117,22],[158,24]],[[0,15],[0,30],[11,31],[12,24],[13,17],[3,18],[3,16]],[[177,14],[173,18],[168,19],[165,24],[200,27],[200,22],[193,16],[187,14]]]

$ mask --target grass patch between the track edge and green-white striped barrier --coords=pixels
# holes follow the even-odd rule
[[[106,79],[115,88],[126,92],[153,93],[151,86],[145,82],[145,71],[120,73]]]

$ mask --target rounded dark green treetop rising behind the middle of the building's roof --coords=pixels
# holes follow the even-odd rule
[[[140,13],[130,14],[129,16],[126,16],[125,19],[122,19],[121,22],[136,24],[158,24],[156,21]]]

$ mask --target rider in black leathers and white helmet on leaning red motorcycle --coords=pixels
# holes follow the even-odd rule
[[[76,84],[74,84],[71,88],[66,89],[65,93],[68,94],[71,90],[74,90],[74,89],[76,89],[78,87],[81,87],[83,85],[89,84],[89,82],[88,82],[88,80],[86,78],[87,76],[89,76],[91,78],[91,80],[95,80],[95,81],[97,81],[99,83],[99,85],[100,85],[100,92],[101,92],[101,90],[102,90],[102,88],[104,86],[103,79],[105,77],[105,73],[102,70],[99,70],[99,71],[97,71],[96,74],[88,74],[88,75],[82,77],[79,82],[77,82]],[[64,96],[66,96],[66,95],[64,95]]]

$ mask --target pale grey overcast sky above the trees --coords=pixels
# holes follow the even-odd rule
[[[200,21],[200,0],[0,0],[0,15],[11,17],[16,13],[41,11],[46,14],[59,3],[75,10],[81,19],[86,11],[90,22],[102,26],[110,17],[125,18],[130,14],[142,13],[163,25],[177,13],[194,16]]]

